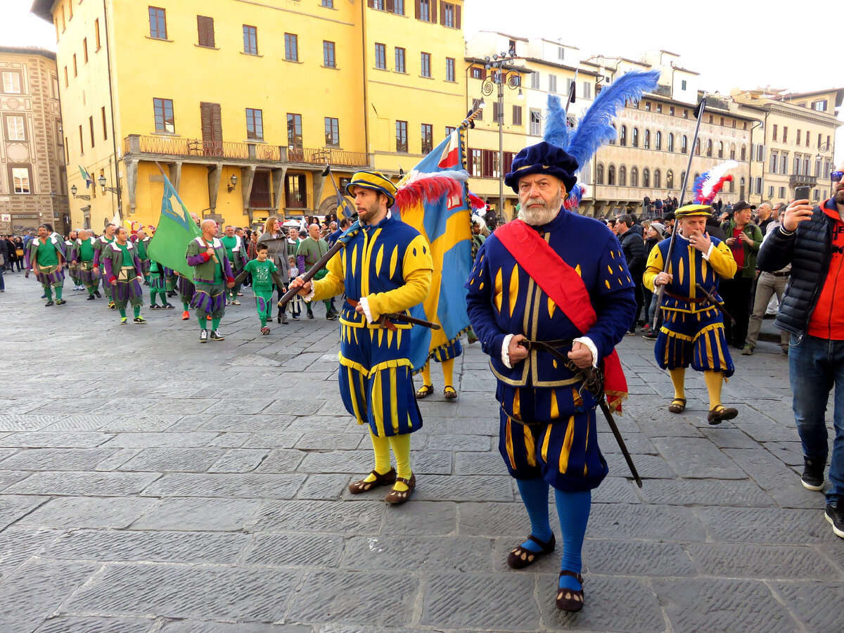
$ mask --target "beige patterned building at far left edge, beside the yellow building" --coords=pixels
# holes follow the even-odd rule
[[[68,231],[56,54],[0,46],[0,234]]]

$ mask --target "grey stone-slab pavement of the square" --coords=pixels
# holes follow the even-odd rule
[[[619,426],[644,488],[599,422],[610,476],[587,531],[587,606],[565,615],[560,549],[506,566],[529,524],[478,345],[457,361],[457,402],[435,368],[417,490],[387,507],[383,489],[346,491],[371,446],[340,402],[322,306],[260,336],[247,289],[225,342],[200,345],[180,311],[120,326],[69,282],[68,305],[48,309],[32,280],[6,280],[3,633],[841,630],[844,543],[799,483],[776,344],[736,351],[724,395],[740,414],[718,427],[701,376],[688,410],[669,414],[652,343],[619,345],[631,391]]]

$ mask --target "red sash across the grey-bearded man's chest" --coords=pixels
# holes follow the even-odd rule
[[[577,271],[521,219],[500,226],[495,236],[574,326],[587,333],[598,315]],[[609,410],[621,413],[621,401],[627,398],[627,379],[615,350],[603,359],[603,385]]]

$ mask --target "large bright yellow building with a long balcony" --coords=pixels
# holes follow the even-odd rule
[[[154,224],[158,165],[203,217],[324,214],[326,163],[341,187],[361,167],[398,176],[466,113],[463,0],[35,0],[32,12],[56,26],[73,225]]]

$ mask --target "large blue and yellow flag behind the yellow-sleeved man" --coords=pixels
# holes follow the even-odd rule
[[[414,371],[421,371],[431,357],[452,358],[449,354],[457,339],[469,327],[466,312],[466,289],[463,284],[472,269],[472,226],[468,204],[468,187],[464,170],[464,123],[442,141],[405,176],[405,181],[419,176],[449,171],[463,172],[460,194],[443,196],[436,202],[419,202],[402,209],[402,220],[419,230],[430,244],[434,260],[430,294],[423,302],[427,321],[439,323],[440,330],[413,327],[411,361]],[[402,186],[399,182],[399,187]],[[443,272],[446,271],[446,274]],[[416,315],[414,315],[416,316]]]

